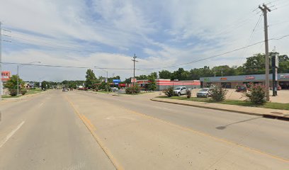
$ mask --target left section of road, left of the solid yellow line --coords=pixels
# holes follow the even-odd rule
[[[1,170],[115,169],[60,92],[0,106]]]

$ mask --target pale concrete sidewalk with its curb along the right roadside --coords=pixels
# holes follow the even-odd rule
[[[236,113],[244,113],[249,115],[260,115],[266,118],[279,118],[283,120],[289,120],[289,111],[271,109],[271,108],[256,108],[248,106],[236,106],[218,103],[206,103],[200,101],[183,101],[170,98],[151,98],[151,101],[159,101],[164,103],[173,103],[184,106],[193,106],[198,108],[210,108],[220,111],[232,111]]]

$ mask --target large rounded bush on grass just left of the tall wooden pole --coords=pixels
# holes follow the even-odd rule
[[[250,84],[248,91],[245,96],[248,97],[247,101],[254,104],[266,103],[266,89],[265,86],[261,84]]]

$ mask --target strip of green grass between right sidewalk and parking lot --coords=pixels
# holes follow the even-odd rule
[[[158,96],[157,98],[169,98],[167,96]],[[184,100],[184,101],[201,101],[207,103],[220,103],[220,104],[229,104],[229,105],[237,105],[237,106],[249,106],[249,107],[258,107],[258,108],[273,108],[273,109],[280,109],[280,110],[288,110],[289,111],[289,103],[273,103],[268,102],[263,105],[256,105],[254,103],[250,103],[249,101],[238,101],[238,100],[225,100],[222,102],[213,102],[210,98],[186,98],[183,96],[172,96],[170,99],[176,100]]]

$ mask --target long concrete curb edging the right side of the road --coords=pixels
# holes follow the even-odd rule
[[[159,100],[156,100],[154,98],[151,98],[150,100],[151,101],[162,102],[162,103],[171,103],[171,104],[176,104],[176,105],[182,105],[182,106],[191,106],[191,107],[196,107],[196,108],[208,108],[208,109],[217,110],[217,111],[229,111],[229,112],[234,112],[234,113],[242,113],[242,114],[246,114],[246,115],[258,115],[258,116],[262,116],[263,118],[275,118],[275,119],[278,119],[278,120],[289,120],[289,117],[280,116],[280,115],[268,115],[268,114],[251,113],[251,112],[236,111],[236,110],[226,109],[226,108],[213,108],[213,107],[210,107],[210,106],[199,106],[199,105],[187,104],[187,103],[176,103],[174,101],[159,101]],[[174,100],[174,99],[170,99],[170,100]]]

